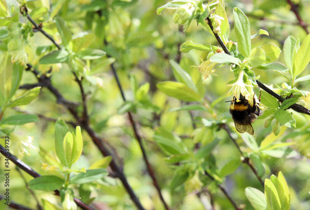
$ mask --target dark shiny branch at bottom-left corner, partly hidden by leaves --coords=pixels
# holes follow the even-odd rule
[[[0,144],[0,153],[9,158],[10,161],[12,161],[16,166],[18,166],[20,169],[24,170],[26,173],[31,175],[33,178],[40,177],[41,175],[34,171],[30,166],[25,164],[23,161],[19,160],[17,157],[12,155],[10,152],[6,152],[5,148]],[[8,155],[7,155],[8,153]],[[59,191],[54,191],[56,195],[59,195]],[[80,199],[74,198],[74,202],[78,205],[78,207],[84,209],[84,210],[95,210],[94,208],[88,206],[87,204],[83,203]]]

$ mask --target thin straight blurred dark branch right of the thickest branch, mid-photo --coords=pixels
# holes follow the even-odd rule
[[[125,97],[125,95],[124,95],[124,92],[123,92],[123,89],[122,89],[122,85],[121,85],[121,83],[120,83],[120,81],[119,81],[119,79],[118,79],[118,76],[117,76],[117,73],[116,73],[116,70],[115,70],[113,64],[111,64],[111,68],[112,68],[114,77],[115,77],[115,79],[116,79],[118,88],[119,88],[119,90],[120,90],[120,92],[121,92],[121,94],[122,94],[122,98],[123,98],[123,100],[126,102],[126,97]],[[141,139],[141,137],[140,137],[140,135],[139,135],[139,133],[138,133],[138,129],[137,129],[137,127],[136,127],[136,124],[135,124],[135,122],[134,122],[134,120],[133,120],[133,118],[132,118],[132,115],[131,115],[131,112],[130,112],[130,111],[128,112],[128,117],[129,117],[129,121],[130,121],[130,123],[131,123],[132,129],[133,129],[133,131],[134,131],[135,138],[137,139],[137,141],[138,141],[138,143],[139,143],[139,145],[140,145],[140,148],[141,148],[141,151],[142,151],[142,154],[143,154],[143,159],[144,159],[144,162],[145,162],[145,164],[146,164],[146,166],[147,166],[147,169],[148,169],[148,173],[150,174],[150,176],[151,176],[151,178],[152,178],[152,180],[153,180],[153,185],[154,185],[155,188],[157,189],[158,195],[159,195],[160,199],[162,200],[162,203],[164,204],[166,210],[169,210],[169,207],[168,207],[168,205],[166,204],[166,202],[165,202],[165,200],[164,200],[164,197],[162,196],[162,192],[161,192],[160,186],[159,186],[159,184],[158,184],[158,182],[157,182],[157,179],[156,179],[156,177],[155,177],[155,173],[154,173],[154,170],[153,170],[153,168],[152,168],[152,165],[151,165],[150,162],[148,161],[147,154],[146,154],[145,148],[144,148],[144,146],[143,146],[142,139]]]

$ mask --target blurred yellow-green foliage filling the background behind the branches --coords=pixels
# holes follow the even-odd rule
[[[32,24],[19,13],[21,2],[12,2],[8,10],[15,10],[19,14],[19,21],[26,28],[23,31],[24,34],[27,34],[27,30],[29,30],[29,34],[27,34],[29,45],[25,45],[28,63],[41,71],[42,74],[46,74],[51,65],[40,64],[39,59],[57,48],[42,33],[33,31]],[[295,2],[298,3],[298,1]],[[38,18],[36,22],[37,24],[42,22],[43,30],[50,34],[57,43],[64,44],[55,24],[55,17],[60,17],[67,24],[73,37],[82,36],[83,33],[94,34],[89,39],[87,36],[84,37],[85,42],[89,42],[87,49],[100,49],[106,52],[107,55],[104,57],[86,60],[85,65],[90,71],[82,72],[80,75],[84,78],[82,84],[87,94],[90,125],[105,139],[104,144],[112,151],[113,158],[118,165],[123,167],[130,185],[145,209],[159,210],[164,207],[152,184],[152,179],[148,175],[139,144],[135,140],[128,120],[127,110],[134,113],[133,118],[142,136],[148,159],[162,188],[162,195],[171,209],[205,209],[204,204],[210,200],[210,197],[214,201],[215,209],[233,209],[215,182],[209,182],[210,180],[206,176],[196,173],[198,166],[210,167],[215,174],[219,176],[221,174],[218,182],[228,189],[237,204],[245,204],[245,209],[253,209],[246,199],[245,188],[251,186],[263,191],[262,186],[250,168],[241,163],[238,149],[227,132],[216,126],[204,126],[208,122],[203,125],[204,121],[202,120],[205,118],[212,121],[215,114],[229,125],[233,131],[233,137],[241,145],[242,151],[251,152],[249,146],[235,130],[229,114],[229,104],[224,102],[230,100],[230,97],[227,97],[230,88],[226,86],[226,83],[234,79],[228,66],[217,68],[216,74],[219,76],[210,76],[204,80],[204,84],[198,90],[201,95],[205,94],[207,103],[215,111],[214,114],[207,112],[203,106],[200,106],[200,110],[173,111],[184,105],[197,105],[198,103],[185,102],[167,96],[157,88],[158,82],[176,80],[171,67],[173,62],[169,62],[169,60],[179,63],[192,77],[195,84],[202,82],[203,78],[200,72],[197,71],[197,68],[190,68],[190,66],[198,66],[201,63],[200,56],[206,58],[207,53],[197,50],[191,50],[186,54],[180,53],[179,46],[182,43],[192,40],[195,43],[218,45],[214,36],[197,26],[194,21],[183,32],[182,26],[174,24],[172,21],[173,10],[165,9],[161,15],[157,15],[156,9],[165,3],[166,1],[161,0],[37,0],[27,2],[26,6],[29,11],[39,7],[47,8],[48,12]],[[4,5],[1,1],[1,18],[7,16],[7,8]],[[299,2],[299,5],[303,20],[310,23],[309,2],[302,1]],[[269,32],[269,36],[260,35],[253,39],[252,49],[271,43],[283,50],[284,41],[289,35],[300,38],[301,42],[307,36],[303,28],[295,24],[295,15],[290,11],[286,1],[225,1],[225,6],[230,24],[233,20],[232,10],[237,6],[248,16],[251,34],[256,34],[260,28]],[[230,40],[237,41],[233,30],[234,27],[231,24]],[[3,39],[0,43],[1,58],[7,51],[7,41]],[[281,53],[278,62],[284,63],[283,53]],[[119,76],[126,99],[129,101],[125,104],[111,71],[112,63]],[[56,71],[57,67],[53,65],[52,72],[48,74],[51,74],[52,84],[64,98],[79,103],[76,109],[82,112],[82,97],[78,84],[70,71],[71,67],[67,63],[62,63],[59,70]],[[265,84],[281,86],[283,82],[286,82],[283,77],[272,70],[255,69],[254,71],[256,75],[260,75],[260,81]],[[307,66],[300,76],[308,74],[309,67]],[[37,82],[37,78],[33,76],[32,72],[24,71],[21,84]],[[297,88],[309,91],[309,84],[309,81],[303,81],[297,85]],[[138,88],[140,89],[138,90]],[[14,97],[24,95],[26,92],[28,90],[19,89]],[[54,145],[55,122],[53,120],[61,117],[69,122],[74,119],[63,105],[56,103],[55,96],[46,88],[41,88],[38,98],[29,105],[7,109],[4,117],[25,113],[37,114],[39,121],[16,126],[14,132],[9,135],[10,148],[17,155],[20,139],[32,136],[34,146],[41,150],[30,149],[30,156],[19,157],[38,173],[50,175],[41,167],[42,163],[46,162],[42,158],[42,154],[45,152],[57,161]],[[298,113],[296,115],[299,117],[297,128],[287,128],[277,138],[277,141],[296,142],[293,147],[295,151],[294,156],[292,155],[293,158],[277,158],[274,157],[275,155],[263,154],[261,156],[262,167],[264,167],[262,177],[270,178],[270,169],[274,174],[282,171],[290,189],[291,209],[303,210],[310,208],[308,202],[310,199],[308,193],[310,190],[309,117]],[[263,124],[263,120],[257,120],[253,124],[255,141],[258,145],[272,132],[271,127],[264,128]],[[69,128],[70,131],[75,131],[75,127]],[[82,135],[83,153],[73,166],[75,169],[87,168],[102,158],[102,154],[93,144],[91,137],[83,130]],[[171,139],[173,140],[171,141]],[[212,153],[210,151],[211,155],[207,156],[209,153],[203,151],[206,153],[202,153],[201,160],[197,161],[192,158],[193,154],[197,152],[197,143],[204,146],[214,141],[217,145],[214,145]],[[159,142],[162,144],[158,144]],[[41,151],[41,155],[39,151]],[[178,152],[188,156],[170,157]],[[181,165],[178,164],[180,158],[185,160]],[[233,163],[232,168],[221,170],[230,161]],[[14,164],[10,164],[11,201],[35,209],[36,201],[29,194],[23,178],[14,169]],[[1,156],[1,195],[4,193],[2,187],[4,186],[3,166],[4,158]],[[111,172],[109,167],[107,169],[108,172]],[[28,174],[21,173],[27,182],[32,179]],[[204,186],[205,183],[209,183],[208,186]],[[98,209],[136,209],[118,179],[105,177],[98,182],[84,185],[84,187],[92,191],[91,197],[96,197],[93,202]],[[40,202],[43,198],[61,206],[60,198],[52,195],[51,192],[35,191],[35,195]]]

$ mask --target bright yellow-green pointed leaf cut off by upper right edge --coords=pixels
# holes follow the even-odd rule
[[[310,34],[306,36],[301,43],[299,50],[295,56],[293,65],[293,77],[299,75],[306,68],[310,61]]]

